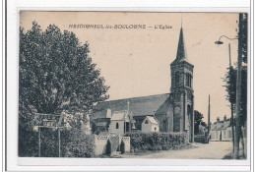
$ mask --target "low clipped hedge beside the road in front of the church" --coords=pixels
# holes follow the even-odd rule
[[[134,152],[167,150],[186,143],[186,133],[128,133]]]

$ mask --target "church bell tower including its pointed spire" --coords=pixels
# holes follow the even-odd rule
[[[183,29],[179,33],[177,54],[170,64],[170,102],[173,109],[173,132],[186,132],[190,143],[194,141],[194,66],[188,62]]]

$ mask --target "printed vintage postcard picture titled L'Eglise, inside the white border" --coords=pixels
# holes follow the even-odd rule
[[[19,17],[20,158],[248,160],[247,13]]]

